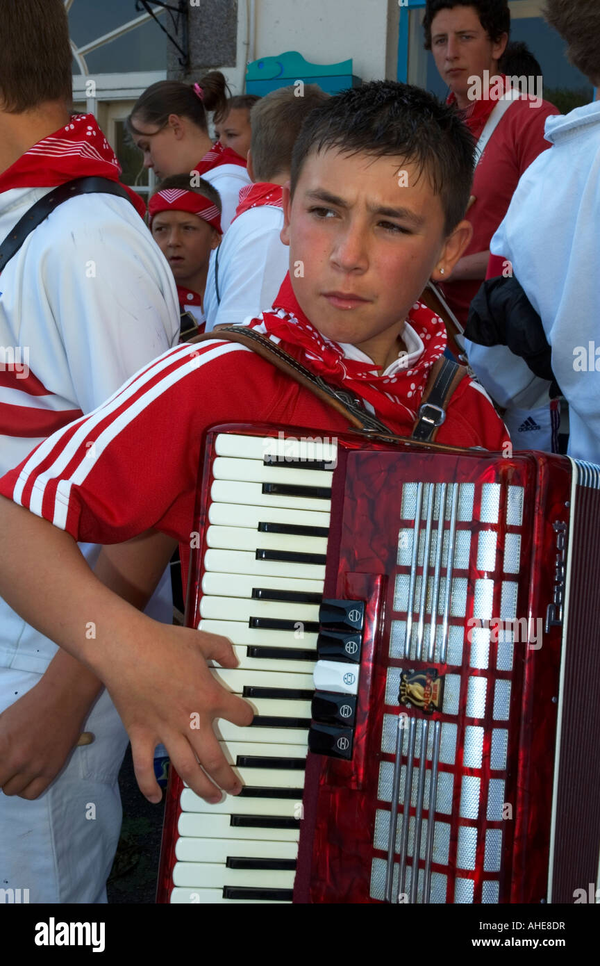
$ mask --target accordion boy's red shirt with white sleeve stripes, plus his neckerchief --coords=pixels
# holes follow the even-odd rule
[[[355,391],[363,381],[370,408],[395,433],[410,435],[428,370],[444,351],[437,316],[414,306],[405,333],[411,368],[397,370],[395,363],[379,374],[367,356],[345,355],[316,332],[288,278],[275,304],[277,311],[263,313],[255,327],[330,382]],[[185,569],[210,426],[266,422],[328,434],[348,428],[341,413],[270,362],[215,336],[160,355],[94,412],[44,440],[0,479],[0,493],[81,541],[121,543],[154,527],[181,543]],[[381,405],[374,405],[377,394]],[[437,440],[499,450],[507,439],[488,397],[465,378]]]

